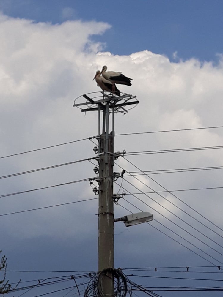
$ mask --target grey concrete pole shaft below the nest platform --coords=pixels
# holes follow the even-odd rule
[[[109,103],[107,103],[109,104]],[[109,120],[106,114],[106,122]],[[108,126],[106,125],[106,128]],[[113,166],[114,131],[106,129],[99,141],[99,193],[98,193],[98,271],[114,267],[114,207],[113,207]],[[109,273],[99,284],[105,296],[114,296],[114,283]]]

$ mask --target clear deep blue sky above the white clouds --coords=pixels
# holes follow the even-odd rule
[[[216,61],[223,48],[221,0],[6,0],[0,8],[13,17],[61,23],[66,19],[108,22],[112,28],[93,40],[106,42],[106,50],[119,55],[151,50],[172,59],[191,57]],[[69,8],[68,14],[62,10]],[[72,11],[73,10],[73,11]]]

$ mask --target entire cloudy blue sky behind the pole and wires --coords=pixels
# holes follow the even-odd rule
[[[115,151],[127,152],[114,166],[127,171],[114,185],[126,193],[114,205],[115,217],[154,215],[149,224],[116,223],[115,267],[150,288],[221,286],[222,6],[0,1],[0,249],[8,259],[7,279],[21,279],[18,289],[53,277],[63,281],[7,296],[78,296],[71,274],[83,296],[81,282],[97,271],[98,206],[88,181],[95,161],[85,159],[95,157],[97,142],[88,138],[98,134],[98,118],[73,102],[100,91],[93,77],[103,65],[132,78],[131,87],[118,88],[139,100],[127,114],[115,115]],[[50,187],[59,184],[65,185]],[[18,194],[23,191],[29,192]],[[65,205],[43,208],[58,204]],[[43,209],[29,211],[34,208]]]

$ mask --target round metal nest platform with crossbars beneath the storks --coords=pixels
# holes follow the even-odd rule
[[[125,114],[128,110],[134,108],[139,103],[139,101],[136,100],[136,96],[126,93],[120,94],[121,96],[117,96],[109,92],[87,93],[77,97],[74,100],[73,107],[80,108],[81,112],[92,110],[105,111],[107,105],[109,104],[109,113],[121,112]],[[131,105],[134,106],[132,107]]]

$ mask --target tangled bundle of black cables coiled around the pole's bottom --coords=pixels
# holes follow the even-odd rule
[[[104,297],[102,279],[104,277],[113,278],[114,281],[114,296],[125,297],[127,293],[131,296],[131,290],[128,290],[127,277],[121,270],[115,268],[106,268],[95,274],[90,280],[87,289],[84,292],[84,297]]]

